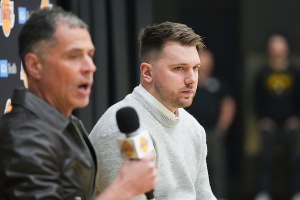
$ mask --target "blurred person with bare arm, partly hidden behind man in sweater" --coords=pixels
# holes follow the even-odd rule
[[[235,101],[228,87],[212,76],[214,57],[210,50],[199,51],[198,87],[192,104],[186,108],[204,127],[207,139],[207,168],[212,192],[227,199],[225,135],[235,113]]]

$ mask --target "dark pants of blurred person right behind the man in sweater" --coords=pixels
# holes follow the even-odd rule
[[[211,190],[216,198],[227,198],[227,162],[224,134],[206,130],[207,168]]]

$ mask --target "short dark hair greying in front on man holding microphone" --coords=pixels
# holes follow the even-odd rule
[[[25,55],[33,52],[44,58],[45,50],[57,44],[55,29],[61,23],[88,30],[88,26],[83,20],[58,6],[38,9],[30,14],[18,35],[18,52],[25,72],[27,72],[24,62]]]

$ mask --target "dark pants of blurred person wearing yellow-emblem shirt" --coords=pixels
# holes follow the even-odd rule
[[[300,191],[300,153],[299,153],[299,131],[297,129],[284,128],[282,124],[272,128],[272,131],[261,131],[262,134],[262,163],[260,168],[259,190],[271,190],[272,161],[278,142],[287,142],[287,155],[291,166],[292,192]],[[279,141],[278,141],[279,140]],[[282,171],[284,173],[284,171]]]

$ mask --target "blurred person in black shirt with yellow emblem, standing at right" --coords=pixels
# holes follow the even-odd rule
[[[262,161],[255,200],[271,199],[271,171],[277,141],[288,143],[292,169],[292,199],[300,199],[299,71],[290,63],[286,38],[273,34],[267,41],[268,60],[255,76],[254,105],[261,134]],[[283,141],[284,139],[285,141]]]

